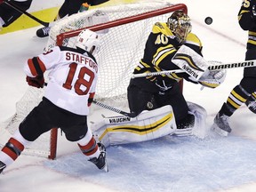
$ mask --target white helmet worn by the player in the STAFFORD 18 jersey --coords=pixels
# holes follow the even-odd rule
[[[76,39],[76,47],[95,54],[100,50],[99,36],[89,29],[84,29]]]

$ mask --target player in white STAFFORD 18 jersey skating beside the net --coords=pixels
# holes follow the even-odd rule
[[[89,161],[108,171],[106,149],[101,143],[97,144],[87,126],[98,76],[98,64],[93,54],[99,49],[98,35],[85,29],[76,40],[76,49],[56,46],[51,52],[28,60],[24,67],[28,84],[44,87],[46,70],[50,70],[49,81],[43,100],[2,148],[0,172],[12,164],[29,143],[53,127],[60,127],[67,140],[77,142]]]

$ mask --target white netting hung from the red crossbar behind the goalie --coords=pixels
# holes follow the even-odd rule
[[[64,31],[89,27],[106,20],[118,20],[168,6],[172,6],[172,4],[166,2],[124,4],[78,13],[70,16],[68,20],[60,20],[58,25],[51,29],[50,38],[45,50],[50,50],[56,44],[56,36]],[[108,19],[104,15],[107,15]],[[167,13],[116,26],[115,28],[109,28],[108,33],[101,35],[102,44],[100,52],[96,56],[100,64],[96,99],[113,100],[114,98],[114,100],[126,100],[126,89],[132,71],[139,64],[152,26],[157,21],[166,21],[169,16],[170,13]],[[74,47],[75,42],[76,36],[64,39],[62,44]]]

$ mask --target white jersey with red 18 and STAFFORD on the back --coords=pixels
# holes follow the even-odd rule
[[[24,67],[25,74],[38,76],[38,66],[43,73],[51,69],[45,98],[74,114],[89,114],[88,99],[93,98],[98,77],[98,64],[92,54],[55,46],[51,52],[29,59]]]

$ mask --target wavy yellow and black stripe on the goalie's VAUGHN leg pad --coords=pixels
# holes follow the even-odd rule
[[[145,135],[148,132],[156,132],[157,130],[161,129],[165,124],[168,124],[173,118],[173,114],[167,114],[160,120],[156,121],[154,124],[146,124],[143,126],[139,125],[121,125],[121,126],[113,126],[108,127],[101,135],[99,140],[102,140],[103,137],[108,132],[132,132],[138,135]]]

